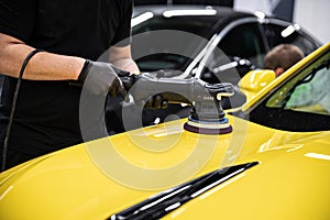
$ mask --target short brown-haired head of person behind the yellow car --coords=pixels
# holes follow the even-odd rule
[[[276,77],[304,58],[304,53],[293,44],[279,44],[265,56],[264,68],[275,72]]]

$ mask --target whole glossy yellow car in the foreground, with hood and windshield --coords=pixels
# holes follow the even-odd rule
[[[330,44],[218,123],[72,146],[0,174],[0,219],[329,219]]]

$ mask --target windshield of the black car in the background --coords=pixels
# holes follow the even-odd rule
[[[219,19],[212,15],[165,16],[152,12],[135,19],[139,16],[142,20],[134,20],[132,24],[132,52],[142,72],[185,70],[206,45],[206,40],[215,34],[212,26]]]

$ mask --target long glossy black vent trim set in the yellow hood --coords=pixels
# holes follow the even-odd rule
[[[109,220],[160,219],[187,201],[257,164],[257,162],[252,162],[215,170],[187,184],[163,191],[119,213],[112,215]]]

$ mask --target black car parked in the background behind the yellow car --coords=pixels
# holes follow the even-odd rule
[[[163,33],[152,34],[155,31],[166,30],[169,32],[168,34],[166,32],[163,32],[164,35]],[[195,40],[193,37],[170,35],[179,34],[179,32],[197,35],[200,41],[197,38]],[[136,37],[135,42],[134,36],[142,33],[144,34],[140,37],[143,40]],[[221,68],[216,69],[223,65],[221,63],[213,64],[212,69],[205,69],[206,62],[217,62],[219,57],[215,57],[216,54],[212,53],[217,53],[216,51],[219,48],[232,62],[238,62],[239,57],[250,61],[250,65],[256,68],[262,68],[265,54],[278,44],[294,44],[305,55],[321,45],[299,24],[268,16],[262,12],[249,13],[231,8],[204,6],[135,7],[132,35],[133,57],[142,72],[158,69],[193,72],[196,69],[197,73],[194,72],[194,74],[200,75],[206,80],[210,77],[205,76],[206,70],[211,70],[215,75],[220,74],[215,70],[222,70]],[[154,36],[160,37],[152,38]],[[183,36],[189,37],[189,35]],[[176,52],[182,50],[182,54],[173,54],[173,47],[178,47]],[[145,56],[141,57],[141,52]],[[183,57],[187,54],[189,57]],[[189,63],[191,59],[195,62]],[[205,62],[201,62],[202,59]],[[239,62],[238,65],[240,65]],[[246,67],[250,67],[249,64]],[[246,74],[246,70],[250,69],[245,69],[245,72],[238,69],[241,77]]]

